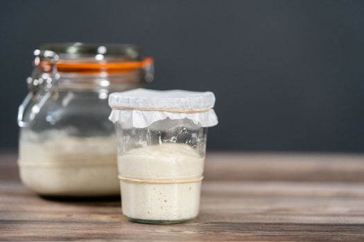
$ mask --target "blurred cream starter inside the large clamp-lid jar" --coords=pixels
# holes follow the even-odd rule
[[[76,138],[60,131],[47,131],[46,137],[21,138],[19,169],[27,187],[55,196],[119,194],[114,137]]]

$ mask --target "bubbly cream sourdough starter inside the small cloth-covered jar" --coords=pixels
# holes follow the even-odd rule
[[[192,147],[162,144],[132,149],[119,156],[119,174],[140,180],[184,180],[202,176],[205,157]],[[200,207],[201,181],[135,183],[121,180],[123,214],[151,221],[195,218]]]

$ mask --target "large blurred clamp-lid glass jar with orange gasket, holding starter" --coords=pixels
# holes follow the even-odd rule
[[[18,113],[22,182],[49,196],[119,194],[107,97],[150,82],[153,60],[132,45],[48,44],[34,66]]]

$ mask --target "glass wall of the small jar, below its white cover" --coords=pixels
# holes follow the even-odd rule
[[[207,128],[188,119],[139,129],[116,122],[122,210],[141,223],[180,223],[198,215]]]

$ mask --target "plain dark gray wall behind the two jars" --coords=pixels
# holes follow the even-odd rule
[[[37,44],[127,42],[153,89],[214,91],[209,149],[364,151],[364,1],[0,1],[0,147]]]

